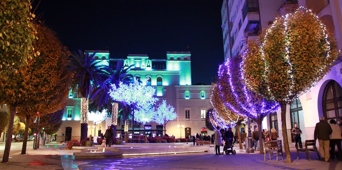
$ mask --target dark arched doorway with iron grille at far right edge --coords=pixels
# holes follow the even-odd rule
[[[335,80],[330,80],[323,92],[323,116],[327,122],[338,122],[342,115],[342,88]]]

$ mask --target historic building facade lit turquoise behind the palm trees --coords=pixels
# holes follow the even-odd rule
[[[89,51],[92,54],[92,51]],[[111,63],[114,66],[121,59],[110,58],[109,51],[98,51],[94,56],[98,60],[103,60],[102,64]],[[167,52],[166,59],[149,59],[146,54],[129,54],[127,59],[123,60],[125,66],[133,65],[134,70],[129,71],[135,77],[145,79],[149,78],[147,86],[156,88],[156,97],[159,101],[156,104],[166,100],[175,108],[177,118],[166,124],[166,134],[174,135],[176,138],[185,138],[185,134],[201,133],[205,126],[205,113],[211,107],[209,102],[211,86],[205,84],[192,85],[191,82],[191,54],[190,52]],[[102,121],[102,133],[107,125],[110,125],[111,115],[105,121]],[[57,141],[69,141],[73,139],[80,140],[80,98],[77,90],[70,91],[63,124],[57,132]],[[88,136],[98,136],[98,125],[90,120],[88,125]],[[143,134],[144,131],[149,136],[162,135],[162,125],[155,122],[134,124],[129,123],[129,133]],[[184,128],[177,128],[177,125]],[[117,134],[123,134],[123,121],[117,126]],[[209,132],[207,134],[212,134]],[[100,133],[101,134],[101,133]],[[204,133],[203,133],[204,134]]]

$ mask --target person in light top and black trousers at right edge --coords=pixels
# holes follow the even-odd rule
[[[341,130],[340,128],[336,125],[336,121],[334,119],[330,120],[330,126],[332,129],[332,133],[330,135],[330,147],[331,147],[331,159],[335,159],[335,144],[337,145],[338,149],[338,159],[342,160],[342,149],[341,149]]]

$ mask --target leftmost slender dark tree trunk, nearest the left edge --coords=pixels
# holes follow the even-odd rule
[[[8,132],[5,144],[5,150],[3,152],[2,162],[8,162],[8,157],[10,156],[10,149],[12,143],[12,134],[13,134],[13,123],[14,123],[14,116],[15,116],[15,106],[10,106],[10,122],[8,125]]]

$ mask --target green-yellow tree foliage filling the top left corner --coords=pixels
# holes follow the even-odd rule
[[[30,0],[0,1],[1,76],[6,76],[8,69],[15,70],[32,59],[34,48],[31,43],[38,37],[31,22],[35,17],[31,8]]]

